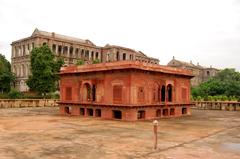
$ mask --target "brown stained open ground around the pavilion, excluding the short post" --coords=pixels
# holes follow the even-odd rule
[[[0,109],[0,159],[240,159],[240,112],[192,110],[152,121],[58,115],[58,108]]]

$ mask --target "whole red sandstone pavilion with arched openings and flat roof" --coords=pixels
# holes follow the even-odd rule
[[[190,114],[188,70],[139,61],[62,67],[60,113],[125,121]]]

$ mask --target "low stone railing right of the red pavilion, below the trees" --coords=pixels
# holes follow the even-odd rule
[[[194,101],[193,108],[211,110],[240,111],[240,102],[237,101]]]

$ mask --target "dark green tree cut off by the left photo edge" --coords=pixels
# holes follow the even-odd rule
[[[11,89],[11,82],[15,76],[11,72],[11,65],[5,56],[0,54],[0,92],[9,92]]]

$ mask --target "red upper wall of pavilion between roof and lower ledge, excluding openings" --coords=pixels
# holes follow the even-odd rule
[[[122,100],[117,104],[156,104],[160,103],[159,89],[164,85],[165,101],[168,99],[167,86],[172,86],[171,103],[190,102],[190,80],[174,75],[149,73],[143,71],[109,71],[106,73],[89,73],[83,75],[68,75],[61,78],[61,101],[67,101],[68,88],[72,88],[73,102],[83,102],[84,84],[96,85],[96,103],[114,104],[113,87],[122,86]],[[143,93],[139,92],[143,88]],[[155,89],[155,91],[154,91]],[[183,89],[185,98],[183,98]],[[155,94],[154,94],[155,92]],[[85,93],[86,94],[86,93]],[[141,95],[143,94],[143,95]],[[141,95],[141,96],[140,96]],[[139,97],[140,96],[140,97]],[[155,97],[155,98],[154,98]],[[141,98],[141,99],[139,99]],[[168,102],[167,102],[168,103]]]

